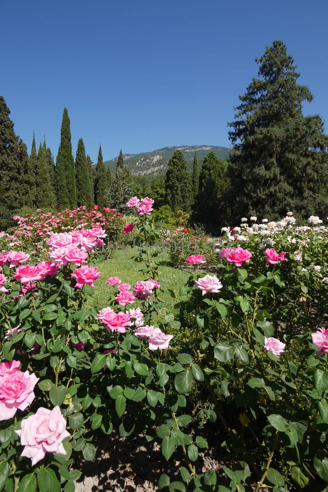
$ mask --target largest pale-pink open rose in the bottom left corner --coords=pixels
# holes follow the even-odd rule
[[[52,410],[40,407],[34,415],[24,419],[21,431],[15,431],[24,446],[22,456],[32,460],[32,466],[42,460],[46,453],[66,455],[62,444],[70,434],[66,431],[66,420],[59,406]]]

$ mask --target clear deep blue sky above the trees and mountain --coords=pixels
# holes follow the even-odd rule
[[[0,94],[30,151],[57,154],[64,106],[75,157],[174,145],[229,146],[227,121],[281,39],[328,131],[326,0],[1,2]]]

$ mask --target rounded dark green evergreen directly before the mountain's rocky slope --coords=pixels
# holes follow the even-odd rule
[[[191,177],[187,162],[180,150],[176,150],[167,164],[165,179],[166,203],[174,213],[190,212],[192,202]]]

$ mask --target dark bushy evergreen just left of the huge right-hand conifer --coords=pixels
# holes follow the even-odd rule
[[[203,162],[199,175],[197,218],[200,222],[217,227],[226,225],[228,210],[225,193],[230,184],[226,176],[227,162],[219,160],[210,151]]]

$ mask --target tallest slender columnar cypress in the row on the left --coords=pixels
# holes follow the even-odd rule
[[[64,108],[60,129],[60,145],[55,166],[55,193],[57,203],[64,207],[77,206],[75,166],[72,154],[70,119]]]

